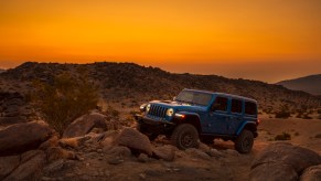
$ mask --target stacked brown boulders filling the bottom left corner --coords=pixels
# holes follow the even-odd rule
[[[41,173],[45,150],[38,149],[53,137],[44,123],[22,123],[0,130],[0,180],[30,180]]]

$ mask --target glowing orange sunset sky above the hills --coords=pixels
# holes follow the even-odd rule
[[[0,67],[25,61],[265,82],[321,73],[321,1],[1,0]]]

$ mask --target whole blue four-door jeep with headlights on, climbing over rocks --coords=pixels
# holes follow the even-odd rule
[[[179,149],[197,147],[199,139],[233,140],[240,153],[250,152],[257,137],[257,102],[205,91],[183,89],[173,100],[140,106],[137,129],[151,140],[165,135]]]

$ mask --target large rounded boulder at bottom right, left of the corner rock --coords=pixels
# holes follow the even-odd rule
[[[311,166],[321,163],[321,157],[307,148],[277,142],[268,146],[254,160],[249,180],[297,180]],[[285,177],[287,175],[287,177]],[[283,178],[283,179],[282,179]]]

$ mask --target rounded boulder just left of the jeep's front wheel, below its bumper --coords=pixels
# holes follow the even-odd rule
[[[120,131],[114,142],[119,146],[125,146],[133,152],[143,152],[149,156],[152,155],[152,146],[146,135],[140,134],[133,128],[125,128]]]

